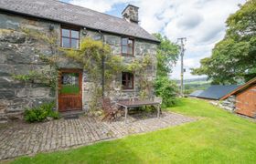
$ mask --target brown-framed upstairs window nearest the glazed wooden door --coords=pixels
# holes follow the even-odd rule
[[[61,28],[61,46],[78,49],[80,47],[80,31]]]

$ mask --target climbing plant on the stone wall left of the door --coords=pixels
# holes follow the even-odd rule
[[[49,67],[39,70],[31,65],[33,67],[32,71],[29,71],[27,74],[14,74],[13,77],[16,80],[26,82],[26,84],[27,82],[45,84],[46,86],[51,87],[53,90],[55,90],[58,77],[58,35],[54,31],[50,31],[49,33],[43,33],[37,30],[31,30],[27,28],[21,28],[21,31],[26,34],[27,39],[29,39],[30,41],[36,40],[37,42],[48,46],[48,48],[50,49],[49,54],[41,52],[37,47],[34,48],[34,53],[35,55],[38,55],[39,59]]]

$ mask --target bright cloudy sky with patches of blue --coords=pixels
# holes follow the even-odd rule
[[[201,58],[211,55],[211,50],[224,36],[225,21],[246,0],[62,0],[93,10],[122,17],[126,5],[139,7],[139,20],[149,33],[161,33],[176,43],[187,37],[184,78],[196,78],[189,68],[199,67]],[[204,76],[203,76],[204,77]],[[180,61],[173,68],[171,78],[180,78]]]

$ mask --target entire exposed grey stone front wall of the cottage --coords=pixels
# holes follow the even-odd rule
[[[58,23],[32,19],[17,15],[0,14],[0,120],[9,116],[21,113],[24,108],[37,106],[44,101],[56,99],[57,94],[49,87],[42,84],[29,84],[17,81],[13,75],[28,74],[31,70],[46,70],[49,66],[42,62],[37,55],[36,50],[42,54],[51,55],[49,46],[40,41],[29,38],[21,28],[36,29],[41,32],[49,33],[49,26],[53,26],[54,30],[60,37],[60,25]],[[84,30],[81,30],[84,31]],[[91,36],[94,39],[101,39],[101,34],[87,30],[86,33],[80,33],[80,37]],[[105,35],[106,43],[112,47],[112,55],[121,55],[121,36]],[[59,43],[58,43],[59,44]],[[135,39],[134,53],[137,58],[145,55],[152,56],[154,59],[154,67],[149,67],[145,71],[149,71],[149,80],[156,77],[156,45],[143,40]],[[61,55],[60,55],[61,56]],[[124,62],[131,62],[133,56],[123,56]],[[67,58],[59,59],[59,67],[62,68],[81,68],[79,64],[70,62]],[[90,84],[93,80],[89,80],[86,70],[83,73],[83,108],[88,109],[90,101]],[[139,94],[138,77],[134,76],[134,89],[123,91],[121,89],[121,75],[117,75],[113,81],[112,99],[117,97],[133,97]],[[152,95],[154,90],[152,90]]]

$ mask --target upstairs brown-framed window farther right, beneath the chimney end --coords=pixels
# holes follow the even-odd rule
[[[134,40],[128,37],[122,37],[122,55],[133,56]]]

